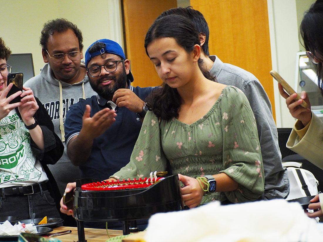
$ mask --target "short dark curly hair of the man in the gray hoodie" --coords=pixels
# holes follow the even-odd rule
[[[69,22],[65,18],[57,18],[48,21],[47,23],[44,24],[44,27],[41,31],[41,36],[40,36],[40,45],[41,47],[45,50],[47,49],[47,42],[49,35],[53,35],[55,32],[62,33],[65,32],[66,30],[71,29],[73,30],[74,34],[78,38],[78,45],[80,48],[80,51],[83,49],[83,37],[82,37],[82,32],[81,30],[78,29],[78,26],[75,24]]]

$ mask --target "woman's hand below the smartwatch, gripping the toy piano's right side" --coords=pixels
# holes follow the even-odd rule
[[[181,188],[182,200],[189,208],[197,207],[201,204],[204,191],[202,190],[197,179],[190,176],[178,174],[179,180],[185,187]]]

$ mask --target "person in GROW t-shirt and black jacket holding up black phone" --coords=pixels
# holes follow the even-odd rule
[[[13,86],[7,86],[10,54],[0,38],[0,214],[21,219],[33,214],[59,217],[46,165],[59,160],[64,146],[30,88],[8,95]],[[18,96],[21,100],[11,103]]]

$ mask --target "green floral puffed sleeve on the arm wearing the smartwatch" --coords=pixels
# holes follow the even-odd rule
[[[236,87],[223,94],[220,109],[223,133],[225,173],[236,181],[238,189],[225,192],[229,201],[253,201],[264,192],[264,169],[255,116],[245,94]]]

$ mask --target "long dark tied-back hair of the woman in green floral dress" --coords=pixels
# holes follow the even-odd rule
[[[200,45],[199,32],[194,28],[193,23],[188,18],[181,15],[167,15],[155,20],[149,28],[145,38],[146,54],[147,46],[155,39],[171,37],[178,45],[182,46],[187,53],[194,49],[194,45]],[[198,60],[199,67],[203,75],[212,81],[210,74],[204,68],[201,68],[203,60]],[[161,88],[154,90],[146,99],[147,106],[157,117],[163,120],[169,120],[178,117],[182,99],[176,88],[172,88],[163,83]]]

